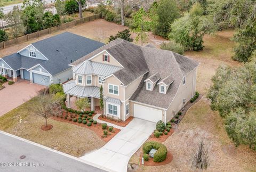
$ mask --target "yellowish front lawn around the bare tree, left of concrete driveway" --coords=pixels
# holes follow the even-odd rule
[[[105,144],[88,128],[53,119],[48,120],[48,123],[53,125],[51,130],[41,130],[44,118],[29,111],[33,101],[34,99],[31,99],[0,117],[0,130],[76,157],[99,149]]]

